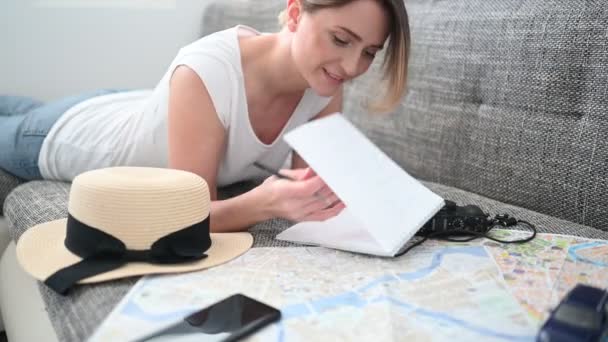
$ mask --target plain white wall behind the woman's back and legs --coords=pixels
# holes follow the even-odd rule
[[[89,89],[152,88],[177,50],[199,37],[209,2],[44,1],[62,0],[0,0],[0,94],[49,100]],[[75,1],[104,4],[68,3]]]

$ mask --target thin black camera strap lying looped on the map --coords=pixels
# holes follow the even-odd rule
[[[479,238],[486,238],[492,241],[500,243],[526,243],[532,241],[536,237],[536,226],[528,221],[518,220],[515,217],[509,216],[508,214],[496,215],[493,219],[489,219],[488,229],[485,232],[478,232],[474,230],[463,229],[450,229],[449,231],[432,232],[422,236],[418,241],[407,246],[405,249],[395,254],[395,257],[404,255],[405,253],[412,250],[412,248],[421,245],[428,239],[436,239],[450,242],[469,242]],[[497,227],[512,227],[516,225],[522,225],[527,227],[531,231],[530,235],[523,239],[515,240],[503,240],[490,234],[491,230]]]

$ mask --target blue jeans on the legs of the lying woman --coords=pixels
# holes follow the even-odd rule
[[[0,168],[25,180],[42,179],[38,157],[51,127],[72,106],[118,90],[96,90],[42,103],[22,96],[0,96]]]

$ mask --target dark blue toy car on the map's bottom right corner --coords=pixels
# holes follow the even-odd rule
[[[538,342],[608,341],[608,291],[578,284],[551,311]]]

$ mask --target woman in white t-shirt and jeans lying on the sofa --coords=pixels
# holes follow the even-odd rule
[[[270,177],[217,200],[216,187],[279,169],[285,132],[341,111],[346,81],[387,44],[385,107],[405,90],[409,27],[402,0],[289,0],[283,28],[237,26],[181,49],[154,91],[100,91],[47,105],[3,98],[0,168],[25,179],[71,180],[115,165],[171,167],[202,176],[214,232],[274,217],[325,220],[344,205],[292,155],[293,181]],[[1,107],[1,106],[0,106]]]

